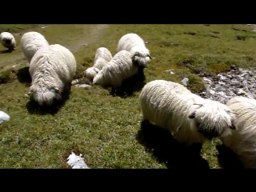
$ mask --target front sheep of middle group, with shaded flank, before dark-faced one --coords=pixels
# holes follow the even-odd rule
[[[122,86],[122,81],[138,73],[138,66],[132,62],[129,51],[121,50],[94,77],[93,84],[103,87]]]

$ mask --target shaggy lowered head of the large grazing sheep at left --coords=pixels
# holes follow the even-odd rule
[[[54,103],[54,99],[61,100],[62,92],[57,87],[46,87],[38,88],[35,86],[30,87],[30,92],[27,94],[34,98],[34,101],[38,102],[40,106],[50,106]]]

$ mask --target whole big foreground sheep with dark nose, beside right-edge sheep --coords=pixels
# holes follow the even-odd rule
[[[201,98],[176,82],[148,82],[139,95],[142,122],[170,130],[180,143],[191,146],[225,137],[234,126],[235,114],[226,105]]]

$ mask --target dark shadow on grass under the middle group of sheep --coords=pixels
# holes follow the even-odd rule
[[[122,86],[117,88],[112,88],[110,90],[110,94],[113,97],[127,98],[134,94],[134,92],[138,92],[142,90],[143,86],[146,85],[145,74],[134,74],[132,77],[127,78],[122,81]]]

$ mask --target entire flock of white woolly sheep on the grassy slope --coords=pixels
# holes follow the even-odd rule
[[[12,34],[2,32],[0,41],[8,50],[15,51]],[[26,96],[39,106],[51,106],[62,100],[62,94],[79,82],[118,89],[124,80],[144,75],[143,70],[151,62],[154,65],[144,40],[133,33],[117,39],[115,54],[106,47],[98,47],[93,65],[80,79],[74,79],[76,58],[65,46],[50,44],[34,31],[22,35],[20,46],[32,78]],[[169,130],[177,142],[191,146],[220,139],[238,155],[245,168],[256,168],[256,100],[253,98],[235,97],[222,104],[193,94],[177,82],[155,79],[143,86],[138,105],[142,122]],[[0,126],[4,121],[10,121],[10,117],[0,111]]]

